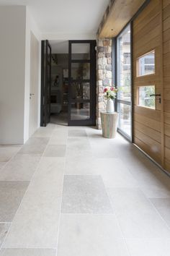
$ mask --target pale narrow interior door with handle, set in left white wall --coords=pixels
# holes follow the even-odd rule
[[[39,70],[39,43],[31,33],[30,42],[30,127],[31,136],[37,129],[38,121],[38,70]]]

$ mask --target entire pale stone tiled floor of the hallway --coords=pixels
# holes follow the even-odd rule
[[[0,147],[2,256],[169,256],[170,178],[120,135],[41,127]]]

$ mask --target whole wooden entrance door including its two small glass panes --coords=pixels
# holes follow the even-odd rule
[[[161,1],[151,1],[133,21],[134,142],[164,166]]]

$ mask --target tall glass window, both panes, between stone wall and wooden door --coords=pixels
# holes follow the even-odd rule
[[[131,135],[131,42],[130,25],[117,37],[117,111],[120,113],[118,128]]]

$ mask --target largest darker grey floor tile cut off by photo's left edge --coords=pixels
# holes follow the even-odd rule
[[[29,182],[0,182],[0,222],[11,222]]]

